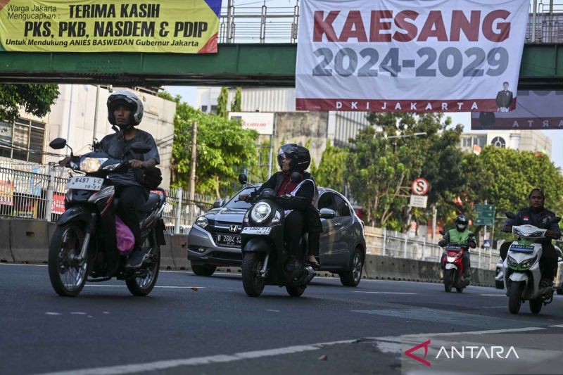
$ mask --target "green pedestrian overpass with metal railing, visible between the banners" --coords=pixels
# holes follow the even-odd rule
[[[563,13],[550,4],[530,15],[519,89],[563,89]],[[0,82],[295,87],[298,5],[221,14],[216,54],[0,51]]]

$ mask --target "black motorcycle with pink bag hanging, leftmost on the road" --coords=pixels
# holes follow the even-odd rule
[[[56,150],[69,147],[62,138],[53,139],[49,146]],[[139,142],[130,147],[134,153],[146,153],[149,149]],[[65,166],[83,175],[68,179],[65,212],[59,217],[49,244],[51,286],[59,295],[75,296],[86,281],[108,281],[116,277],[125,280],[133,295],[151,293],[158,279],[160,245],[164,244],[165,191],[157,189],[160,193],[151,193],[139,209],[146,255],[141,267],[126,269],[126,257],[121,255],[116,241],[118,198],[108,174],[124,172],[128,162],[96,151],[96,146],[94,151],[81,156],[72,155],[70,150],[70,160]]]

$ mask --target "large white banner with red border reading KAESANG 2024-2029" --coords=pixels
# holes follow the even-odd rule
[[[507,112],[528,0],[303,0],[297,110]]]

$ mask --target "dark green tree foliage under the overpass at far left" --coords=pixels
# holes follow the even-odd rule
[[[43,117],[59,95],[56,84],[0,84],[0,120],[13,122],[20,107],[25,112]]]

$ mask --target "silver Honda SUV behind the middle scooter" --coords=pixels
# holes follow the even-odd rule
[[[211,276],[218,266],[241,266],[241,224],[251,205],[236,199],[253,190],[242,189],[224,205],[216,203],[191,227],[188,260],[195,274]],[[346,197],[332,189],[319,188],[321,208],[334,211],[334,217],[321,219],[321,270],[339,274],[346,286],[357,286],[365,260],[364,224]]]

